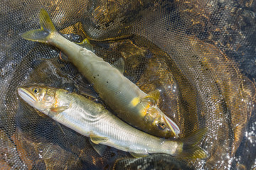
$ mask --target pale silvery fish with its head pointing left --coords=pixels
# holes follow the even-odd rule
[[[206,134],[206,129],[181,140],[164,139],[124,123],[102,104],[74,92],[35,85],[18,87],[17,92],[28,105],[81,135],[90,137],[94,145],[114,147],[134,157],[154,153],[188,159],[207,157],[206,152],[196,145]]]

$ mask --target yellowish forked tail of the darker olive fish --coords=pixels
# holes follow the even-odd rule
[[[28,30],[26,33],[22,33],[21,37],[26,40],[48,43],[50,40],[50,35],[57,33],[57,30],[53,26],[50,16],[43,8],[39,13],[39,20],[41,29]]]

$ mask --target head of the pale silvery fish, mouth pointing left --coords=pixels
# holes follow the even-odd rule
[[[24,86],[18,87],[18,96],[33,108],[43,113],[48,113],[50,108],[55,107],[57,100],[55,98],[56,90],[44,86]]]

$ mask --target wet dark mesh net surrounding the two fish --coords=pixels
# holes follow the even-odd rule
[[[50,45],[23,40],[46,8],[60,33],[90,40],[145,93],[161,90],[159,107],[181,137],[208,128],[207,159],[152,154],[134,159],[58,125],[18,98],[17,86],[92,89]],[[1,169],[255,169],[256,2],[164,0],[0,1]],[[92,91],[93,92],[93,91]]]

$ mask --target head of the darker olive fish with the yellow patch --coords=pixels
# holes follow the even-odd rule
[[[144,120],[151,125],[151,130],[159,133],[161,137],[178,137],[180,130],[171,118],[165,115],[156,105],[154,98],[144,98]]]

